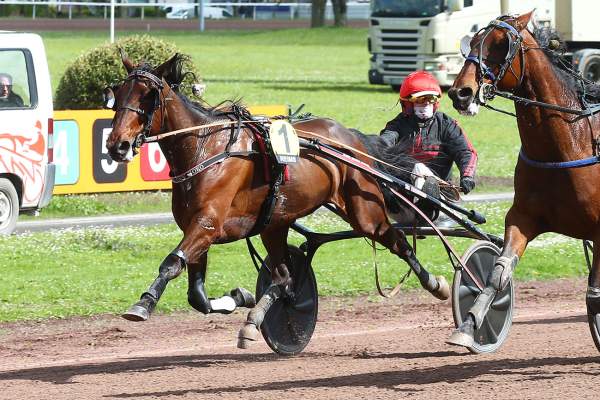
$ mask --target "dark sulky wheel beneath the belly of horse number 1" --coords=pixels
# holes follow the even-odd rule
[[[278,299],[265,315],[260,326],[265,341],[274,352],[291,356],[300,353],[312,337],[317,324],[317,280],[306,256],[297,247],[288,245],[292,259],[289,267],[294,298]],[[270,265],[269,257],[265,263]],[[256,299],[260,299],[271,284],[271,272],[263,265],[256,281]]]

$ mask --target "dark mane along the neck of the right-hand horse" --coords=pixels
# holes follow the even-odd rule
[[[587,101],[600,102],[600,85],[585,83],[573,76],[573,67],[564,59],[567,45],[555,29],[545,26],[536,27],[532,35],[552,63],[556,74],[578,97],[585,97]],[[558,43],[558,48],[550,46],[550,41],[554,41],[554,45]]]

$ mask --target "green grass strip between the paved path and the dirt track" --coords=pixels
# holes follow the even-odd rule
[[[508,203],[476,205],[488,217],[485,229],[501,234]],[[329,213],[305,221],[318,231],[347,229]],[[144,228],[85,229],[0,237],[3,279],[0,321],[63,318],[101,313],[118,314],[147,289],[163,258],[177,245],[181,233],[174,225]],[[462,253],[473,243],[452,239]],[[290,242],[299,244],[293,233]],[[258,244],[258,240],[255,239]],[[452,268],[439,240],[419,241],[418,257],[435,274],[451,279]],[[381,279],[395,285],[407,266],[387,251],[377,253]],[[313,266],[321,295],[375,295],[371,249],[363,239],[324,245]],[[253,290],[256,272],[245,244],[213,246],[209,253],[207,288],[219,296],[237,286]],[[544,235],[531,244],[517,268],[516,278],[552,279],[583,276],[585,261],[580,242]],[[10,282],[10,284],[9,284]],[[406,287],[416,287],[409,278]],[[158,312],[189,310],[185,273],[171,282]]]

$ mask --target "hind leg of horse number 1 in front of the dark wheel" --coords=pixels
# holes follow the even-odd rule
[[[246,322],[238,333],[238,347],[248,348],[250,341],[258,340],[260,328],[267,311],[277,301],[290,293],[293,284],[286,265],[291,265],[287,247],[288,227],[264,232],[261,234],[262,242],[267,249],[269,267],[271,268],[271,285],[265,290],[256,306],[248,313]]]

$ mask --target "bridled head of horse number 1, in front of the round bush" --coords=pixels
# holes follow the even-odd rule
[[[144,138],[163,129],[165,98],[171,90],[165,76],[177,64],[179,55],[157,68],[134,66],[121,51],[127,77],[118,85],[104,90],[104,106],[115,111],[112,132],[106,148],[115,161],[131,161]]]

